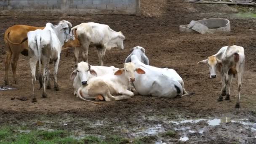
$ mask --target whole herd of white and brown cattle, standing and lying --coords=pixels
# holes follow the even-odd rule
[[[35,97],[35,82],[38,79],[43,87],[42,97],[46,98],[46,89],[51,89],[49,64],[54,64],[54,90],[59,91],[57,73],[62,50],[75,48],[75,67],[70,78],[74,80],[74,95],[84,101],[118,101],[131,99],[134,95],[175,98],[189,96],[184,82],[174,69],[158,68],[149,65],[145,49],[136,46],[125,59],[123,68],[104,67],[103,56],[106,50],[117,47],[124,49],[122,32],[112,30],[108,25],[93,22],[82,23],[75,27],[69,21],[59,21],[57,25],[47,23],[45,27],[14,25],[4,36],[5,84],[9,84],[8,69],[11,62],[13,83],[17,84],[16,66],[19,54],[29,56],[32,76],[32,96]],[[88,48],[95,46],[101,66],[88,64]],[[79,51],[83,51],[83,61],[78,63]],[[13,59],[11,59],[13,57]],[[232,78],[238,75],[238,92],[235,107],[240,107],[240,91],[244,72],[244,49],[237,45],[222,47],[218,53],[198,64],[208,64],[210,78],[221,73],[221,94],[218,101],[229,100]],[[41,72],[41,63],[43,73]]]

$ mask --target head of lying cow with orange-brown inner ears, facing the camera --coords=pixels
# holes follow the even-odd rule
[[[144,70],[141,68],[136,68],[135,65],[131,62],[125,63],[123,69],[118,69],[115,72],[115,75],[122,75],[124,74],[125,78],[128,79],[130,82],[135,81],[135,75],[134,72],[137,72],[138,74],[144,74]]]

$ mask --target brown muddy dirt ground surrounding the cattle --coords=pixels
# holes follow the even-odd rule
[[[104,102],[101,105],[81,101],[73,96],[73,82],[69,80],[69,75],[74,70],[74,50],[70,49],[68,57],[65,57],[65,51],[61,53],[58,72],[60,91],[48,90],[47,99],[40,98],[40,91],[36,91],[38,102],[32,103],[28,57],[20,56],[17,67],[19,84],[12,85],[16,88],[14,90],[0,91],[0,126],[22,124],[35,128],[37,125],[33,123],[40,120],[45,123],[45,128],[82,133],[77,135],[115,134],[128,137],[131,141],[138,136],[149,136],[146,143],[256,142],[256,19],[235,15],[249,11],[250,8],[180,3],[180,0],[142,0],[141,8],[141,16],[1,16],[0,83],[4,83],[3,35],[8,27],[14,24],[42,27],[47,22],[56,24],[65,19],[73,26],[93,21],[123,32],[126,37],[125,50],[113,48],[107,51],[104,59],[106,66],[121,68],[130,48],[140,45],[146,49],[150,65],[175,69],[183,78],[186,90],[195,92],[194,95],[181,99],[136,96],[128,101]],[[179,32],[181,24],[214,17],[229,19],[231,32],[206,35]],[[209,79],[207,66],[197,65],[198,61],[228,45],[230,37],[236,37],[237,45],[245,48],[240,109],[235,109],[237,77],[232,83],[230,101],[217,102],[220,76]],[[99,64],[96,48],[89,49],[88,62],[92,65]],[[11,70],[9,80],[13,80]],[[11,100],[14,97],[25,97],[28,100]],[[223,117],[227,117],[227,120],[223,120]],[[179,125],[171,122],[199,118],[205,120]],[[209,120],[219,120],[220,124],[211,125]],[[169,130],[175,131],[176,136],[159,134]],[[189,140],[184,141],[185,137]]]

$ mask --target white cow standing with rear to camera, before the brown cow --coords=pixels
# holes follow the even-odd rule
[[[31,69],[33,86],[33,102],[37,101],[34,93],[37,61],[39,62],[40,88],[42,88],[43,86],[42,97],[47,97],[45,91],[45,81],[47,80],[49,82],[48,64],[52,62],[54,62],[54,90],[59,91],[59,86],[57,83],[57,72],[61,47],[63,46],[64,42],[75,39],[75,37],[72,35],[71,27],[72,24],[70,24],[68,21],[63,20],[59,21],[59,24],[55,27],[53,26],[53,24],[47,23],[44,29],[37,29],[35,31],[30,31],[27,33],[29,46],[29,64]],[[43,63],[43,77],[41,76],[41,61]]]

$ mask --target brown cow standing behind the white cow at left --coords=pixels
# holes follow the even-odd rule
[[[28,43],[27,43],[27,33],[29,31],[34,31],[36,29],[43,29],[44,27],[32,27],[27,25],[14,25],[9,27],[5,31],[5,51],[6,51],[6,58],[5,58],[5,85],[9,84],[8,80],[8,70],[11,62],[11,67],[13,71],[13,84],[18,84],[17,76],[16,76],[16,67],[17,62],[19,60],[19,54],[21,53],[24,56],[28,56]],[[64,44],[62,50],[67,49],[68,55],[68,48],[69,47],[80,47],[80,43],[77,39],[70,40]],[[13,59],[11,61],[11,58]],[[38,66],[37,66],[38,67]]]

